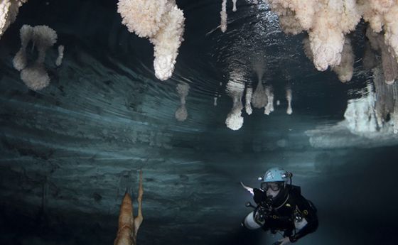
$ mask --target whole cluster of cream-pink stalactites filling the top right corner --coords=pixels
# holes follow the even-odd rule
[[[346,34],[361,17],[372,31],[384,31],[384,43],[398,60],[398,4],[396,0],[269,0],[285,33],[308,33],[304,49],[318,70],[331,67],[342,82],[353,76],[353,50]]]

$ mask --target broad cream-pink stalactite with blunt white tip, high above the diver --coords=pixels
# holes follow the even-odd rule
[[[360,21],[354,0],[270,0],[270,6],[278,13],[286,33],[307,31],[313,63],[321,71],[340,64],[344,34],[353,31]]]

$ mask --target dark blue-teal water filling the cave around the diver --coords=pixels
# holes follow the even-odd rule
[[[165,82],[154,75],[149,41],[122,25],[117,1],[31,0],[20,9],[0,40],[0,244],[112,244],[119,204],[126,189],[136,195],[140,169],[138,244],[271,244],[280,236],[240,227],[251,197],[239,182],[257,186],[275,165],[293,172],[318,207],[318,231],[297,244],[396,244],[395,143],[319,148],[306,134],[342,121],[348,99],[371,80],[360,62],[363,23],[352,34],[355,75],[343,84],[315,70],[304,35],[285,36],[265,4],[238,1],[233,13],[229,2],[226,33],[217,28],[221,1],[177,4],[185,40]],[[23,24],[48,25],[65,45],[60,67],[56,48],[48,51],[51,82],[39,92],[12,65]],[[227,129],[230,72],[255,87],[259,57],[281,104]],[[174,116],[181,82],[190,85],[183,122]]]

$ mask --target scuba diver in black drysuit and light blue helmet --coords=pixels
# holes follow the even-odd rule
[[[291,185],[292,173],[281,168],[270,168],[264,175],[260,189],[241,185],[252,193],[257,207],[247,202],[247,207],[253,207],[244,218],[242,226],[247,229],[262,227],[272,234],[284,232],[283,239],[274,244],[289,244],[301,239],[318,228],[316,207],[310,200],[301,195],[301,188]],[[288,181],[290,183],[288,184]]]

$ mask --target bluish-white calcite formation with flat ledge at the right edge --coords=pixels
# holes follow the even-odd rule
[[[372,69],[373,82],[362,97],[350,99],[344,120],[306,131],[318,148],[389,146],[398,143],[398,84],[384,82],[382,67]]]

